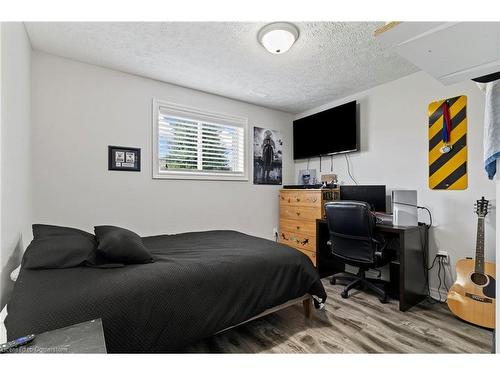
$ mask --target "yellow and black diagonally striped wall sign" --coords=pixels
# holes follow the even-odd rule
[[[443,112],[449,108],[451,132],[443,142]],[[448,152],[446,147],[448,146]],[[435,190],[467,189],[467,96],[429,104],[429,187]]]

